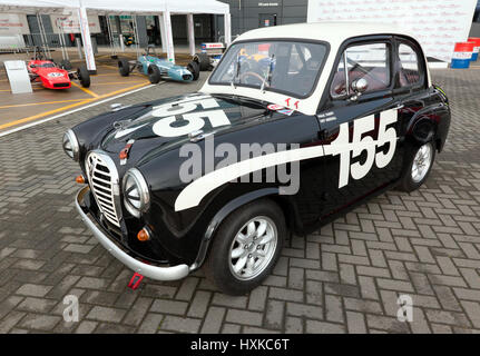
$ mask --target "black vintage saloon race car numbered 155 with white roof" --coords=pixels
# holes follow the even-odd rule
[[[264,65],[241,52],[267,49]],[[239,36],[199,92],[116,107],[63,148],[78,212],[110,254],[157,280],[204,266],[224,293],[305,235],[396,187],[418,189],[450,108],[419,42],[391,26],[308,23]]]

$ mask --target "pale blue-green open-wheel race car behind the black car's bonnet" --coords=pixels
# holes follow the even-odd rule
[[[176,81],[197,80],[200,71],[196,61],[190,61],[187,67],[183,67],[158,58],[153,44],[147,46],[145,53],[139,56],[137,60],[127,60],[125,58],[118,60],[118,71],[123,77],[128,77],[135,69],[148,76],[151,83],[157,83],[161,79]]]

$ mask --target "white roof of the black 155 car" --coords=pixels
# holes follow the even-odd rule
[[[265,27],[251,30],[238,36],[236,41],[266,39],[266,38],[295,38],[307,40],[322,40],[331,44],[340,44],[344,40],[369,34],[401,34],[413,37],[404,29],[401,29],[392,23],[370,23],[370,22],[310,22],[294,23],[274,27]],[[335,46],[336,47],[336,46]]]

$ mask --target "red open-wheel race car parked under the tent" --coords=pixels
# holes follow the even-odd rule
[[[87,67],[80,66],[72,70],[68,60],[62,60],[58,66],[52,59],[47,59],[39,49],[36,49],[33,58],[27,62],[27,70],[32,83],[47,89],[69,89],[71,80],[78,80],[84,88],[90,87]]]

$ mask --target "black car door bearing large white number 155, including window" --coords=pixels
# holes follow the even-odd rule
[[[391,37],[357,39],[344,44],[336,59],[329,98],[317,115],[324,145],[323,219],[398,178],[402,157],[392,49]],[[360,79],[366,80],[363,92],[355,91]]]

